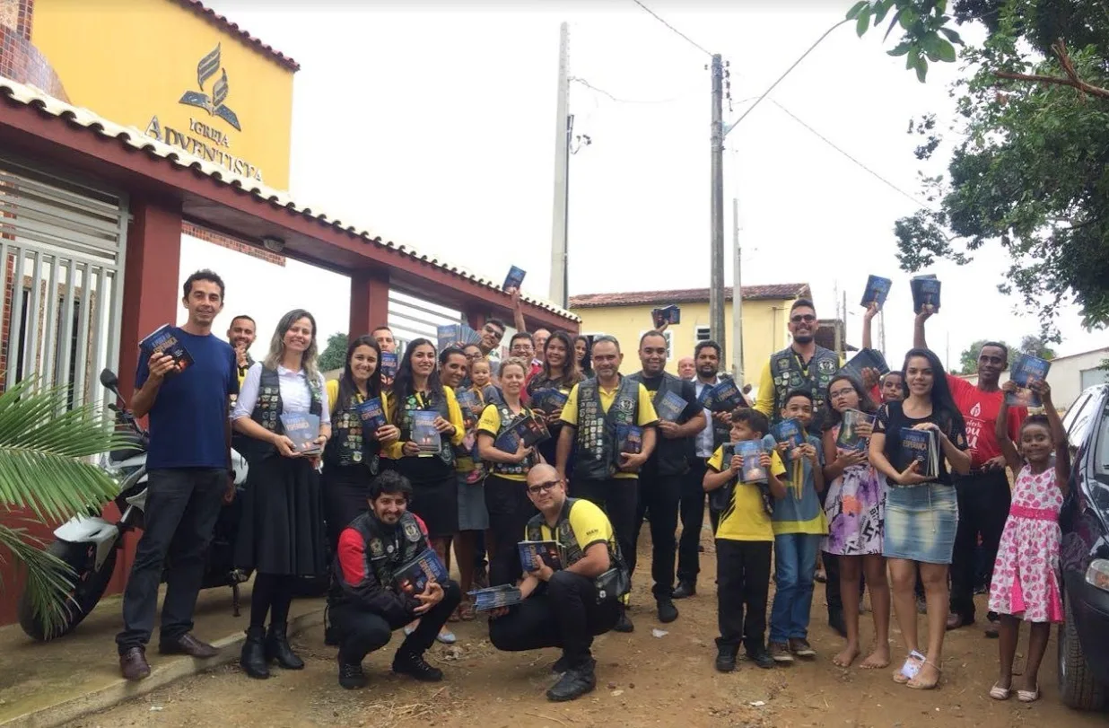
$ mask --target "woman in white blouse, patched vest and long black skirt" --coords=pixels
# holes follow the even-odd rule
[[[277,323],[269,353],[246,373],[232,415],[247,436],[250,463],[235,564],[253,569],[251,625],[240,664],[254,678],[269,663],[298,670],[304,661],[288,645],[288,608],[299,577],[323,573],[326,559],[323,498],[316,465],[330,436],[323,374],[316,368],[316,320],[295,309]],[[318,435],[298,447],[286,425],[314,415]],[[311,417],[309,428],[313,424]],[[299,421],[299,422],[297,422]],[[269,631],[265,631],[266,615]]]

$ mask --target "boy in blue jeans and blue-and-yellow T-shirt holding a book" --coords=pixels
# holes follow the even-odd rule
[[[804,390],[791,392],[782,407],[782,419],[801,425],[801,443],[777,443],[786,465],[785,497],[774,506],[774,606],[770,613],[770,656],[775,663],[792,663],[793,656],[815,657],[808,644],[808,615],[813,606],[813,576],[827,519],[821,505],[824,459],[821,441],[808,434],[813,421],[813,396]]]

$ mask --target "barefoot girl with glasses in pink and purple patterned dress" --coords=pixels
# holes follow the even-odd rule
[[[873,415],[877,407],[863,386],[847,376],[832,380],[825,401],[831,405],[831,413],[824,418],[824,452],[832,455],[827,456],[828,463],[824,466],[824,478],[831,483],[825,506],[828,536],[824,550],[834,554],[840,562],[840,593],[847,623],[847,644],[832,661],[847,667],[859,655],[857,597],[865,572],[874,614],[874,651],[863,660],[862,667],[886,667],[889,665],[889,583],[886,580],[886,559],[882,556],[885,478],[871,466],[865,449],[836,446],[845,411],[859,410]],[[856,424],[855,432],[868,438],[871,425]]]

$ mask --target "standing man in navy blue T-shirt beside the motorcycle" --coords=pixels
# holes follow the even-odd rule
[[[172,356],[140,351],[131,402],[136,417],[150,415],[150,447],[145,528],[123,593],[123,631],[115,637],[120,669],[129,680],[150,675],[146,643],[166,556],[159,651],[201,658],[217,651],[191,633],[204,554],[222,501],[234,494],[228,403],[238,393],[238,375],[234,350],[212,335],[212,322],[223,310],[223,281],[212,271],[197,271],[183,287],[189,322],[171,332],[192,363],[179,367]]]

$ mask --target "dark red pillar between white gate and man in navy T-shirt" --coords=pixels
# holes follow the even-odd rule
[[[131,201],[120,322],[120,392],[130,400],[139,364],[139,342],[162,324],[177,322],[181,291],[181,206]],[[216,271],[218,272],[218,271]]]

